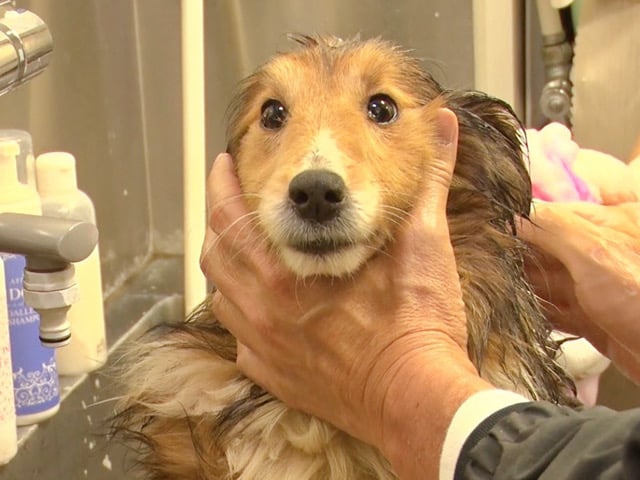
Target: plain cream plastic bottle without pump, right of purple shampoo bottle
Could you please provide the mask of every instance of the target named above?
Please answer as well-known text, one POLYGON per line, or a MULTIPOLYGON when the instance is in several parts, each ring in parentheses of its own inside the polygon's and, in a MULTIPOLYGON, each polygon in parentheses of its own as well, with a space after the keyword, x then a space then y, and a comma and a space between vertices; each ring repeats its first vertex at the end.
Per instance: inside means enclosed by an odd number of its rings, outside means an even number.
MULTIPOLYGON (((91 199, 78 189, 76 161, 66 152, 36 158, 36 179, 43 215, 96 223, 91 199)), ((58 372, 79 375, 103 366, 107 342, 98 245, 85 260, 74 264, 80 299, 71 305, 71 342, 56 350, 58 372)))

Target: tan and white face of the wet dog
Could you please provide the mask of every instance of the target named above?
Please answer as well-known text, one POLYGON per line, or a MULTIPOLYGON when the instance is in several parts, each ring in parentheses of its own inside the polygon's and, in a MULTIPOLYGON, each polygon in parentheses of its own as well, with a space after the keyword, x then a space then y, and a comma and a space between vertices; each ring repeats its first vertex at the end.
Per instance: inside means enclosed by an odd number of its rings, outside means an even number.
POLYGON ((229 151, 285 264, 343 275, 385 244, 419 195, 438 91, 383 42, 301 41, 242 85, 229 151))

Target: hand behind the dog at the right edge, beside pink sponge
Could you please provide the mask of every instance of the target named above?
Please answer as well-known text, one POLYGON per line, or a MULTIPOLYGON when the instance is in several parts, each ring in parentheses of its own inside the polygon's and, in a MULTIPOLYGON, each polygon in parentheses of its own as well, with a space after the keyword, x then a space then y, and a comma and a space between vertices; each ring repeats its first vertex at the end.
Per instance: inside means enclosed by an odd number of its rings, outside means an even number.
POLYGON ((640 203, 539 203, 519 235, 551 322, 640 381, 640 203))

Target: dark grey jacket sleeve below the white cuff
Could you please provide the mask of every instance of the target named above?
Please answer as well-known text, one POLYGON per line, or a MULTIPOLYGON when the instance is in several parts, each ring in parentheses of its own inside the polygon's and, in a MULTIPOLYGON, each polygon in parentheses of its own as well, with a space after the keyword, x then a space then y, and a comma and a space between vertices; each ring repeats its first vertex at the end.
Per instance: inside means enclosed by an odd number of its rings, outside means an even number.
POLYGON ((640 409, 521 403, 465 442, 455 480, 640 480, 640 409))

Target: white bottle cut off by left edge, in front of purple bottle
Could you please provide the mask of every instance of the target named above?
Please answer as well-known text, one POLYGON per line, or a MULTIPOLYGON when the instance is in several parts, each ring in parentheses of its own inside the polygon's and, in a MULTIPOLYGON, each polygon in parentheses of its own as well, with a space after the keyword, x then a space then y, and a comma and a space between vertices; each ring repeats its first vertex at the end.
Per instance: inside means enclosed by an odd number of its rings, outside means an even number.
POLYGON ((18 452, 16 406, 13 402, 13 370, 9 341, 9 312, 4 285, 4 263, 0 262, 0 465, 18 452))

